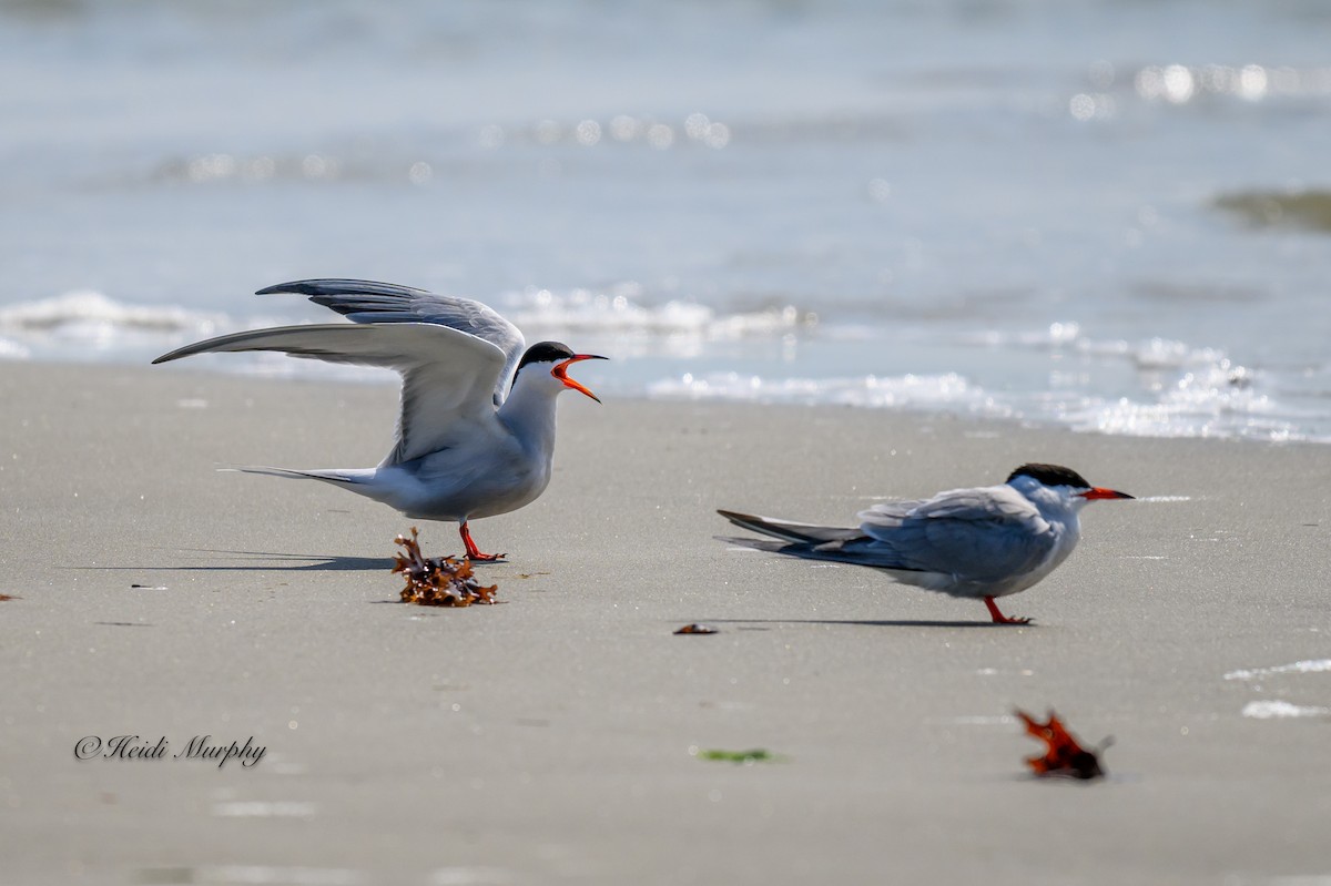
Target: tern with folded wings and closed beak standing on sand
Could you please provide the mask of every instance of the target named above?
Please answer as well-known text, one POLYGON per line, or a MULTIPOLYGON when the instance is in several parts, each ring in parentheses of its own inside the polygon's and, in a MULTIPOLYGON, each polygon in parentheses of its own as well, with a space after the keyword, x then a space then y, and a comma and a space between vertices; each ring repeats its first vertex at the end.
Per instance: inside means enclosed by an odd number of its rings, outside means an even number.
POLYGON ((1099 499, 1130 499, 1058 464, 1022 464, 1002 486, 949 490, 932 499, 884 502, 857 528, 788 523, 717 511, 735 525, 780 539, 723 539, 759 551, 881 569, 897 581, 954 597, 980 597, 994 624, 1029 624, 998 611, 1077 547, 1078 514, 1099 499))

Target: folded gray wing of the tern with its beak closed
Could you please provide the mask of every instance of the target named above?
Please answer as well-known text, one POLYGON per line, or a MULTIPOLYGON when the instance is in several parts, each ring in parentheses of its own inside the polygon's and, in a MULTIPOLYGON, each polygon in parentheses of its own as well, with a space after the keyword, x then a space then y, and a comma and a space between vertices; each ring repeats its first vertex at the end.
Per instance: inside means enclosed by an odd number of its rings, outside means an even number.
POLYGON ((874 565, 997 581, 1029 572, 1057 544, 1053 527, 1009 486, 954 490, 924 502, 878 504, 860 514, 874 565))

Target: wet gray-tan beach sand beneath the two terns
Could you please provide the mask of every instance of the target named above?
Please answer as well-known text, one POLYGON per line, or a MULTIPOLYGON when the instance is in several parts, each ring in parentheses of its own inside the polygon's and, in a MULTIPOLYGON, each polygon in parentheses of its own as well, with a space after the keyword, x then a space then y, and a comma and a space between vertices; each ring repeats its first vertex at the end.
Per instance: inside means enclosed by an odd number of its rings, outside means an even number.
POLYGON ((393 387, 7 365, 0 396, 3 882, 1331 882, 1331 448, 567 395, 550 490, 473 525, 502 605, 427 609, 405 517, 214 471, 374 464, 393 387), (713 540, 1028 460, 1142 498, 1004 600, 1032 627, 713 540), (1017 706, 1113 736, 1109 778, 1028 776, 1017 706), (168 750, 76 758, 122 734, 168 750))

